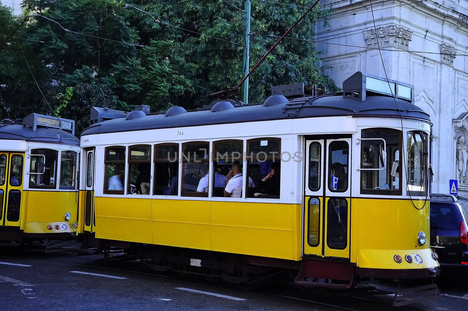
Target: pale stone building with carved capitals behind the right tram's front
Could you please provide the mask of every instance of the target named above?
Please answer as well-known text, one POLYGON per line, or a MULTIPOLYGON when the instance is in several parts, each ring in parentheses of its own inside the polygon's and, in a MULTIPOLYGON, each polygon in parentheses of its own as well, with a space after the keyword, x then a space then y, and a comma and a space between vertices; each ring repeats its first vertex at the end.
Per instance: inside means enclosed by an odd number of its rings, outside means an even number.
POLYGON ((317 22, 322 66, 340 86, 356 71, 414 85, 415 104, 431 115, 432 193, 459 180, 468 195, 468 0, 321 0, 317 22))

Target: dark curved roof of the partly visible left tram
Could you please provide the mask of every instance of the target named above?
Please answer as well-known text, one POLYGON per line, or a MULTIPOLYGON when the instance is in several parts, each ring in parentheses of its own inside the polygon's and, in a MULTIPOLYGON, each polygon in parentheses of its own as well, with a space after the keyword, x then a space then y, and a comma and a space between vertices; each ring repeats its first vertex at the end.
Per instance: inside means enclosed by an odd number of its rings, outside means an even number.
POLYGON ((21 124, 0 124, 0 140, 2 139, 80 145, 78 138, 64 130, 37 127, 36 131, 33 131, 21 124))

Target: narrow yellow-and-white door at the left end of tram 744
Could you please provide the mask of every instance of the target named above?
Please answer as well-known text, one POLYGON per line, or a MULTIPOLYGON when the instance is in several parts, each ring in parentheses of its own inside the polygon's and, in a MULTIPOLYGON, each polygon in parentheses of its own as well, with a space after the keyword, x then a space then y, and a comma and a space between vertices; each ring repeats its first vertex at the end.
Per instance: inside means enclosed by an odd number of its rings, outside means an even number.
POLYGON ((95 149, 86 151, 86 178, 85 178, 85 223, 84 230, 94 232, 94 172, 95 172, 95 149))

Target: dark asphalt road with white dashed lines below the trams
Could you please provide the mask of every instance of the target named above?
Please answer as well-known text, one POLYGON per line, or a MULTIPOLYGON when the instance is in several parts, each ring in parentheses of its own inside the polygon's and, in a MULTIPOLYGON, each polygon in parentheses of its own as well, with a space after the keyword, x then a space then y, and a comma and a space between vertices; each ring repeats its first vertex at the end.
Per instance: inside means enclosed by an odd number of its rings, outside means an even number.
MULTIPOLYGON (((395 310, 393 296, 324 295, 291 284, 244 291, 191 278, 151 273, 138 261, 112 265, 100 256, 0 249, 0 310, 395 310)), ((467 276, 468 277, 468 276, 467 276)), ((467 310, 468 283, 438 280, 444 296, 398 310, 467 310)), ((391 290, 391 283, 375 283, 391 290)))

